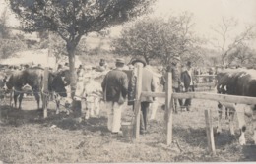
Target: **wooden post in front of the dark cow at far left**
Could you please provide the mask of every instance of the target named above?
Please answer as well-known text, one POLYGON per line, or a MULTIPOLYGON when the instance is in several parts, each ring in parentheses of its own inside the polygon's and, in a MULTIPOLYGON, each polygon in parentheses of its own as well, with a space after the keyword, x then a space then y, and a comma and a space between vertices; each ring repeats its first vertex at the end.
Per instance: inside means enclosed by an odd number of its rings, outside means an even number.
POLYGON ((48 75, 49 69, 46 67, 44 69, 44 76, 43 76, 43 92, 42 92, 42 108, 43 108, 43 118, 47 117, 47 107, 48 107, 48 75))

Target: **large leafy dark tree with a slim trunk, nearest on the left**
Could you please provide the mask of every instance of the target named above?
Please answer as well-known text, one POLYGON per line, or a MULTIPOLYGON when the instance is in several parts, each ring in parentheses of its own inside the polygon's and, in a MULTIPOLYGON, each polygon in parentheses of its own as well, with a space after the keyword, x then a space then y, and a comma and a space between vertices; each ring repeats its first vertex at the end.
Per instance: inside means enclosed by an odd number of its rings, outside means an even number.
POLYGON ((47 29, 66 44, 75 90, 75 50, 83 35, 119 25, 145 13, 152 0, 9 0, 28 32, 47 29))

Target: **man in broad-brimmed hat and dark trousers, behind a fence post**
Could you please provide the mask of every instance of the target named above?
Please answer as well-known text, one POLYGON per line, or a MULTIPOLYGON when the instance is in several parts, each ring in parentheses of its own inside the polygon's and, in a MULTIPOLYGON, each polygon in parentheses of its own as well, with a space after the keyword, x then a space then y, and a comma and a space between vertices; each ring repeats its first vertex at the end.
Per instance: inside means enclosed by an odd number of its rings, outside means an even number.
MULTIPOLYGON (((142 70, 142 91, 156 91, 156 82, 154 79, 154 75, 151 71, 145 68, 147 65, 146 61, 142 57, 137 57, 131 60, 130 62, 133 64, 136 68, 137 65, 143 66, 142 70)), ((129 101, 132 101, 135 99, 135 90, 136 90, 136 70, 134 70, 131 81, 129 82, 129 101)), ((146 134, 147 133, 147 114, 149 112, 149 106, 150 103, 154 101, 155 97, 142 97, 141 98, 141 111, 142 111, 142 117, 140 121, 140 134, 146 134)))

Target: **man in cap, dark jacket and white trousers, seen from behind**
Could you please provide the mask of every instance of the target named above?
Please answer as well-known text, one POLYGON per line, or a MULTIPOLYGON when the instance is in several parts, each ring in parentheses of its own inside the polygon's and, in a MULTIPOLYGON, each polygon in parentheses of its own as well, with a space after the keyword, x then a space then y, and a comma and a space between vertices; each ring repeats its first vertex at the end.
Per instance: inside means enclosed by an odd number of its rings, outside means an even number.
POLYGON ((108 110, 107 128, 117 134, 121 128, 121 114, 128 91, 128 78, 122 71, 123 59, 116 59, 116 68, 109 71, 101 83, 103 99, 108 110))

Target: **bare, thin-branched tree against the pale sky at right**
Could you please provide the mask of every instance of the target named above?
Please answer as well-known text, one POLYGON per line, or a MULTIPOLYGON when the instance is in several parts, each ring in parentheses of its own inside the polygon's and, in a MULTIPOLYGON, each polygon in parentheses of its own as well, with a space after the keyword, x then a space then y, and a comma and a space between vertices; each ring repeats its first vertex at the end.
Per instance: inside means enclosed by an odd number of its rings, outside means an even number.
POLYGON ((231 31, 234 30, 237 25, 238 23, 234 19, 223 18, 221 24, 212 28, 220 37, 219 39, 215 38, 215 41, 212 44, 218 50, 220 50, 223 65, 226 64, 225 60, 228 56, 228 53, 232 51, 237 45, 244 44, 246 41, 255 38, 255 33, 253 33, 254 26, 245 27, 243 32, 240 34, 235 34, 235 36, 231 38, 230 36, 234 35, 231 33, 231 31))

